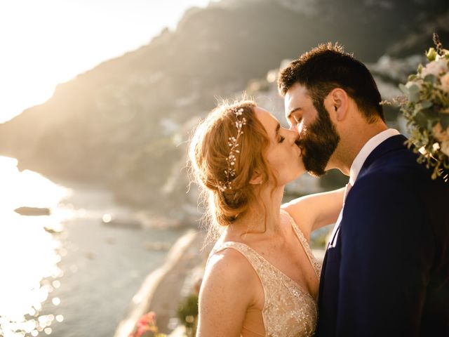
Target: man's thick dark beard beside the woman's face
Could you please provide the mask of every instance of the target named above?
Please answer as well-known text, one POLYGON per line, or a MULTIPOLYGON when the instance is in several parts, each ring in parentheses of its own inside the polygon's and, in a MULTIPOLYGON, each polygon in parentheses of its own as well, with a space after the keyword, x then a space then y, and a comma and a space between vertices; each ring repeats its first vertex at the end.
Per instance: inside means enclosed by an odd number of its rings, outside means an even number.
POLYGON ((300 135, 300 147, 304 166, 311 176, 323 176, 326 166, 338 143, 340 136, 330 120, 323 103, 314 103, 318 111, 316 121, 300 135))

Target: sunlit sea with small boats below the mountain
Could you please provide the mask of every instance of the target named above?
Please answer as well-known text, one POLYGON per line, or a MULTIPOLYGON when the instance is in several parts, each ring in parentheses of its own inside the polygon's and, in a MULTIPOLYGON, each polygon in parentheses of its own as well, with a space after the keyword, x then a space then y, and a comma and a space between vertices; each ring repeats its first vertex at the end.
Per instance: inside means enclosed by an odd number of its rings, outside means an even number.
POLYGON ((185 230, 114 227, 105 216, 126 224, 134 211, 101 187, 56 184, 0 157, 0 336, 113 336, 166 258, 154 247, 185 230), (21 206, 51 215, 21 216, 21 206))

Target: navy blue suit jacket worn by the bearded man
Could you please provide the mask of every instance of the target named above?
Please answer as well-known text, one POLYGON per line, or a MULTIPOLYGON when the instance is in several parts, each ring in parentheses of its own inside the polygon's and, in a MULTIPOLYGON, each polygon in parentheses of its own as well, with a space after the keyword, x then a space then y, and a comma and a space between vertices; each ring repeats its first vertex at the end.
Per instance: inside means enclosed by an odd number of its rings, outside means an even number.
POLYGON ((449 184, 405 141, 378 145, 347 195, 316 336, 449 336, 449 184))

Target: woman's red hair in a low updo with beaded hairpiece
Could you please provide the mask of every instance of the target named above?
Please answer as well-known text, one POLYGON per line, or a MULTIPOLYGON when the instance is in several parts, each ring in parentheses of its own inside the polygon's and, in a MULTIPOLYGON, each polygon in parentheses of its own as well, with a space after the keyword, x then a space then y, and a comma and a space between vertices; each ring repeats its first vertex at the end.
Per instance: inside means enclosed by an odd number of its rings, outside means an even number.
POLYGON ((210 215, 219 225, 231 224, 255 199, 255 186, 260 185, 250 180, 257 176, 266 183, 271 175, 264 157, 269 138, 255 107, 252 100, 220 104, 190 141, 193 176, 206 190, 210 215))

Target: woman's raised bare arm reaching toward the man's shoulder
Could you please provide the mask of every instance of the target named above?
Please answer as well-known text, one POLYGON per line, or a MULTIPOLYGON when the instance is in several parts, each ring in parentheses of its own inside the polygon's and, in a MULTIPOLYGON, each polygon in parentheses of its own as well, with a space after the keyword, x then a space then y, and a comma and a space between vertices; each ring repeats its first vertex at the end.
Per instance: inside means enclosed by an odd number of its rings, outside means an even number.
POLYGON ((320 227, 335 223, 342 209, 344 187, 330 192, 309 194, 281 207, 290 213, 307 236, 320 227))

